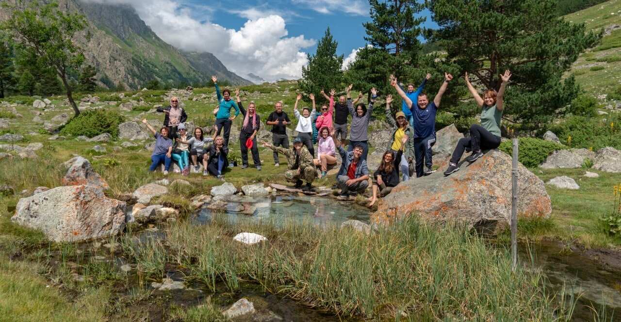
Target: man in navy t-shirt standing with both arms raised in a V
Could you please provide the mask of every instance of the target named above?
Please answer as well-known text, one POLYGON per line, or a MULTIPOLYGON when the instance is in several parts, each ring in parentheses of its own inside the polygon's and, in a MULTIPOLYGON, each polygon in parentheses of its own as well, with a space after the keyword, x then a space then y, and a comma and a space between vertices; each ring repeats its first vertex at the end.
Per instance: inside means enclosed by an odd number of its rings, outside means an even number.
POLYGON ((410 110, 412 111, 412 119, 414 119, 414 156, 416 177, 427 176, 435 170, 432 169, 432 146, 435 144, 435 116, 440 107, 442 96, 446 92, 448 83, 453 79, 453 75, 444 73, 444 83, 440 86, 438 94, 433 98, 433 102, 429 103, 427 94, 421 93, 418 96, 418 108, 412 100, 406 95, 399 84, 397 78, 391 75, 391 85, 399 93, 410 110), (426 169, 423 167, 426 166, 426 169))

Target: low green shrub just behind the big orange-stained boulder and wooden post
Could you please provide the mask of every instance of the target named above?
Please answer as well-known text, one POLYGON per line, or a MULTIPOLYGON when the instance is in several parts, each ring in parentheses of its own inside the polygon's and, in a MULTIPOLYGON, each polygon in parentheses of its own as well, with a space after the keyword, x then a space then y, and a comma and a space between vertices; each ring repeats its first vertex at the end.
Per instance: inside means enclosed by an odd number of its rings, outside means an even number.
MULTIPOLYGON (((520 138, 519 145, 520 148, 517 159, 527 168, 535 168, 539 164, 542 164, 552 152, 563 150, 562 145, 540 138, 520 138)), ((499 149, 511 155, 513 151, 511 141, 502 142, 499 149)))

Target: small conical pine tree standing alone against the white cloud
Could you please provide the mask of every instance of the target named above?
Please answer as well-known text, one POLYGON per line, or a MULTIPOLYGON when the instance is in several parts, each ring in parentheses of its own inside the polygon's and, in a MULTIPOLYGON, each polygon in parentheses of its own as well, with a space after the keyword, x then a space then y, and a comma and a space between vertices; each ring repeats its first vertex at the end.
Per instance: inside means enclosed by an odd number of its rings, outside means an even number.
MULTIPOLYGON (((337 46, 328 28, 317 43, 315 55, 308 54, 309 65, 302 67, 302 79, 298 81, 302 91, 319 94, 322 89, 329 92, 330 89, 338 91, 343 87, 343 55, 337 55, 337 46)), ((324 99, 322 96, 315 97, 324 99)))

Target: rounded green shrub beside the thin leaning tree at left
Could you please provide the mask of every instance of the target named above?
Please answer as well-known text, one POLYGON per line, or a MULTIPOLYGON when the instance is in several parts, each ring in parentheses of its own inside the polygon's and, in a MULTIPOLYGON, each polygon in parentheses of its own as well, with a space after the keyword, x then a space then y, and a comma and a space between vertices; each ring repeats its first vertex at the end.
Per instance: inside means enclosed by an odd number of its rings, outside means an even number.
POLYGON ((87 110, 78 117, 74 117, 67 123, 61 134, 64 135, 86 135, 89 138, 102 133, 110 133, 113 138, 119 135, 119 124, 124 122, 124 117, 112 110, 87 110))

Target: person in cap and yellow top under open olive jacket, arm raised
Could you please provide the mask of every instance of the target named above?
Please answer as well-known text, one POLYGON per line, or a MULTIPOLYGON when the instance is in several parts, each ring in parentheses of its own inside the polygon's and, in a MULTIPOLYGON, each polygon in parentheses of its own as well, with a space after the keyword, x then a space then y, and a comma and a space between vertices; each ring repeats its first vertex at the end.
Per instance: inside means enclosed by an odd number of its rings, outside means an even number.
MULTIPOLYGON (((392 103, 392 95, 386 96, 386 121, 394 128, 391 138, 392 141, 388 143, 386 151, 394 152, 392 156, 403 151, 399 161, 399 170, 401 171, 402 181, 408 181, 410 179, 410 161, 414 159, 414 140, 407 141, 406 146, 402 146, 401 138, 407 136, 409 138, 414 137, 414 128, 412 128, 406 120, 406 115, 403 112, 397 112, 395 117, 392 117, 390 104, 392 103)), ((384 154, 386 156, 386 154, 384 154)), ((412 169, 414 170, 414 169, 412 169)))

